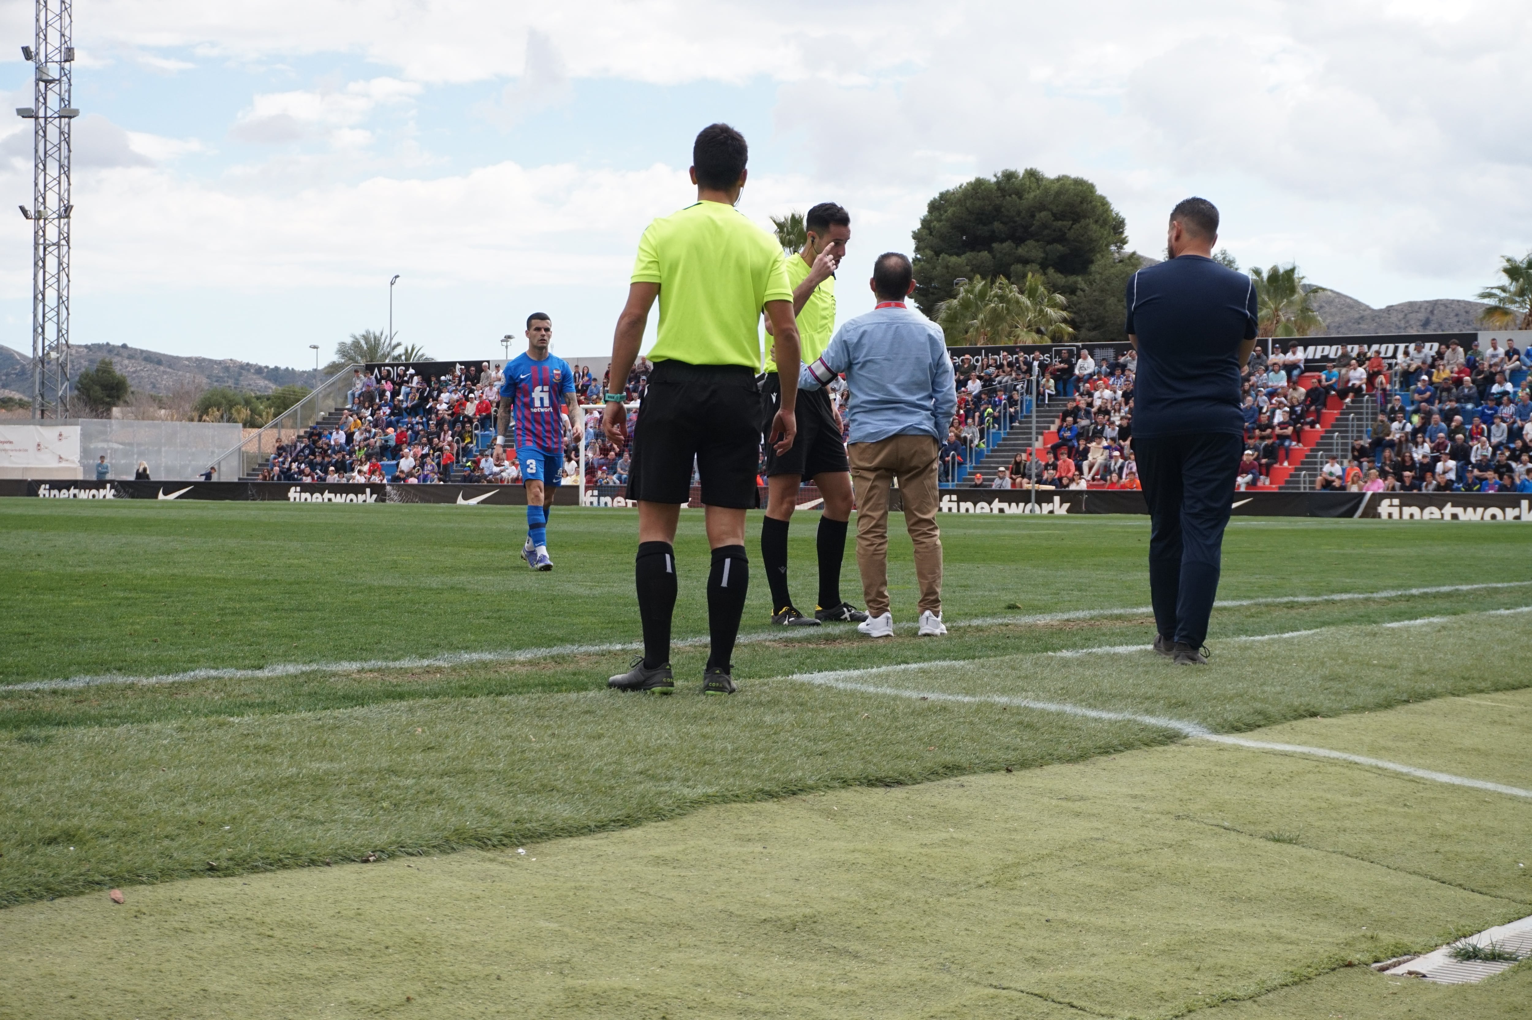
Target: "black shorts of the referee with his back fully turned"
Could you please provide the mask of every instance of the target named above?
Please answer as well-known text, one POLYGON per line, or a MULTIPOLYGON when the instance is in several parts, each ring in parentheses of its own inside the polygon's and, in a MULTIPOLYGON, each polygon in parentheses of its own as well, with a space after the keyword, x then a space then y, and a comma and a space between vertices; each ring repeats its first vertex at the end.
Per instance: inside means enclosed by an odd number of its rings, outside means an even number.
POLYGON ((657 361, 633 424, 628 499, 686 502, 696 459, 705 505, 755 508, 758 418, 755 374, 743 365, 657 361))

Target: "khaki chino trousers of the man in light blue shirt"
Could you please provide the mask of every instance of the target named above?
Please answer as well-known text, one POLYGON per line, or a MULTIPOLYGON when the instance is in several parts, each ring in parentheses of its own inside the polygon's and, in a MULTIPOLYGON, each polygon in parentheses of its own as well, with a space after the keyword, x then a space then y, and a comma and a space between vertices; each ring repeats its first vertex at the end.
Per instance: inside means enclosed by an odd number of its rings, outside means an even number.
POLYGON ((942 536, 936 527, 938 444, 928 435, 893 435, 852 443, 846 455, 856 492, 856 568, 867 613, 889 611, 889 487, 899 479, 904 528, 915 544, 915 579, 922 613, 942 613, 942 536))

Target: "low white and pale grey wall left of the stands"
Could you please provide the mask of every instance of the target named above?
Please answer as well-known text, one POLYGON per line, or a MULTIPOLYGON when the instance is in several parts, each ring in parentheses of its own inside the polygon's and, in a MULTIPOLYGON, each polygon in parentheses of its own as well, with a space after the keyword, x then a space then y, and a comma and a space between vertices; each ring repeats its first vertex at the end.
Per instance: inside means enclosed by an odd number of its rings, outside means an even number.
MULTIPOLYGON (((130 421, 112 418, 63 418, 60 421, 26 421, 0 424, 0 478, 95 478, 97 458, 106 455, 112 478, 132 478, 139 461, 147 461, 155 481, 199 478, 207 466, 239 444, 239 424, 211 421, 130 421), (40 452, 43 436, 52 438, 52 453, 40 452), (14 436, 6 444, 6 436, 14 436), (20 446, 29 444, 25 463, 20 446), (60 446, 63 444, 63 446, 60 446), (12 450, 11 459, 6 450, 12 450), (49 456, 52 461, 44 463, 49 456), (70 458, 72 459, 66 459, 70 458)), ((49 447, 49 449, 52 449, 49 447)), ((233 478, 227 481, 236 481, 233 478)))

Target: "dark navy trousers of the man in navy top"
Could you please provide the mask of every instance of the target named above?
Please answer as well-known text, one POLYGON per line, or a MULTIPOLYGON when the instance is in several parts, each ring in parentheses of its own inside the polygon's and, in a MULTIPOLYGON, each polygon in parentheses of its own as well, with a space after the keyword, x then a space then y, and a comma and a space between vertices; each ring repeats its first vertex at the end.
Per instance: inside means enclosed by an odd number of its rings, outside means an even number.
POLYGON ((1134 438, 1149 502, 1149 591, 1160 634, 1198 648, 1218 596, 1224 527, 1244 438, 1198 432, 1134 438))

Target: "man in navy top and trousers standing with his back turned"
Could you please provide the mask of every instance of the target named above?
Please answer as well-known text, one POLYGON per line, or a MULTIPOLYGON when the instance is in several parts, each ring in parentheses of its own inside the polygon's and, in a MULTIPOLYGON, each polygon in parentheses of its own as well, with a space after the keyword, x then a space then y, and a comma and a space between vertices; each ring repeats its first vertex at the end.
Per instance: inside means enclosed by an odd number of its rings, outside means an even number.
POLYGON ((1128 282, 1138 349, 1134 453, 1149 501, 1154 646, 1178 663, 1201 651, 1218 594, 1224 527, 1244 450, 1239 366, 1255 349, 1255 280, 1213 262, 1218 210, 1190 198, 1170 213, 1167 262, 1128 282))

